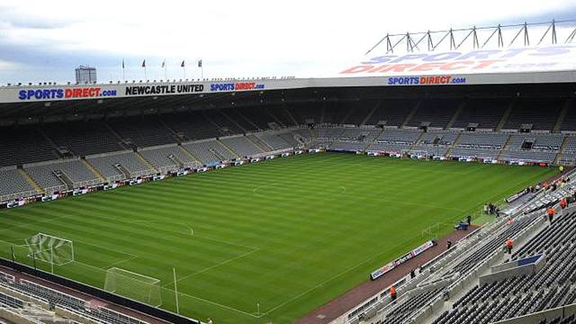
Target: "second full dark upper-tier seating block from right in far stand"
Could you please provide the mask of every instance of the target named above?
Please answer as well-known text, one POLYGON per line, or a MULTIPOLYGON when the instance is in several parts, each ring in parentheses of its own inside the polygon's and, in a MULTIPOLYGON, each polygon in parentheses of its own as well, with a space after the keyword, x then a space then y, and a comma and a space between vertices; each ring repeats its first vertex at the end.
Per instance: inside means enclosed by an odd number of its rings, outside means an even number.
POLYGON ((509 104, 509 99, 470 99, 458 114, 452 127, 465 129, 473 122, 478 124, 478 129, 494 130, 509 104))

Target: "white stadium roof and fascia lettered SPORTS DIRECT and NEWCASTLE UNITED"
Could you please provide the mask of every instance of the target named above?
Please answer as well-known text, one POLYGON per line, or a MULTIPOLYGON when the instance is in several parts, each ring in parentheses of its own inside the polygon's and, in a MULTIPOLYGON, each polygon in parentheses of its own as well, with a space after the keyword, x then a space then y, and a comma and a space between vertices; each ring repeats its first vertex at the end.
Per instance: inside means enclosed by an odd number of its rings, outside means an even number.
POLYGON ((576 82, 576 45, 386 54, 333 77, 0 87, 0 103, 233 93, 311 87, 502 85, 576 82))

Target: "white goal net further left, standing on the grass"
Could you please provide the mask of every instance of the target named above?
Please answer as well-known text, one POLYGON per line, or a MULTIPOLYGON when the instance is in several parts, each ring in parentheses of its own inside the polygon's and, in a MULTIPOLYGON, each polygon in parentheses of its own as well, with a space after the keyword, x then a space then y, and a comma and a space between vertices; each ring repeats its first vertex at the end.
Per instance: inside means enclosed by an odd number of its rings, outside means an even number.
POLYGON ((74 243, 66 238, 38 233, 26 238, 25 246, 28 247, 28 257, 54 266, 74 261, 74 243))

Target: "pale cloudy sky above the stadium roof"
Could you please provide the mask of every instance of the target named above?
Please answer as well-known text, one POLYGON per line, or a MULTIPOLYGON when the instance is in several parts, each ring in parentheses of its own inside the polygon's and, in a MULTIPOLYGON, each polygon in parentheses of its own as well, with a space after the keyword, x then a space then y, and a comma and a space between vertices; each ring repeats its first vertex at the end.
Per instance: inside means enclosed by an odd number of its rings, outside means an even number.
POLYGON ((150 80, 326 76, 387 32, 552 19, 576 19, 576 2, 0 0, 0 85, 73 82, 79 65, 140 80, 144 59, 150 80))

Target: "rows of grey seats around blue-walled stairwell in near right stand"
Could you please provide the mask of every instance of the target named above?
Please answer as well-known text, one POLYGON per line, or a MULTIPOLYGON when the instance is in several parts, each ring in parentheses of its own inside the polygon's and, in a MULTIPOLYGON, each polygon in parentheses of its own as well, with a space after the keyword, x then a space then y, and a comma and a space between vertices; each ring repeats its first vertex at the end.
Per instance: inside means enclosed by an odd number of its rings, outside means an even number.
MULTIPOLYGON (((434 323, 493 322, 572 304, 576 300, 572 285, 576 282, 575 220, 576 213, 565 213, 512 256, 517 260, 543 255, 543 269, 475 286, 454 303, 453 311, 444 312, 434 323)), ((571 321, 573 316, 567 320, 571 321)))

